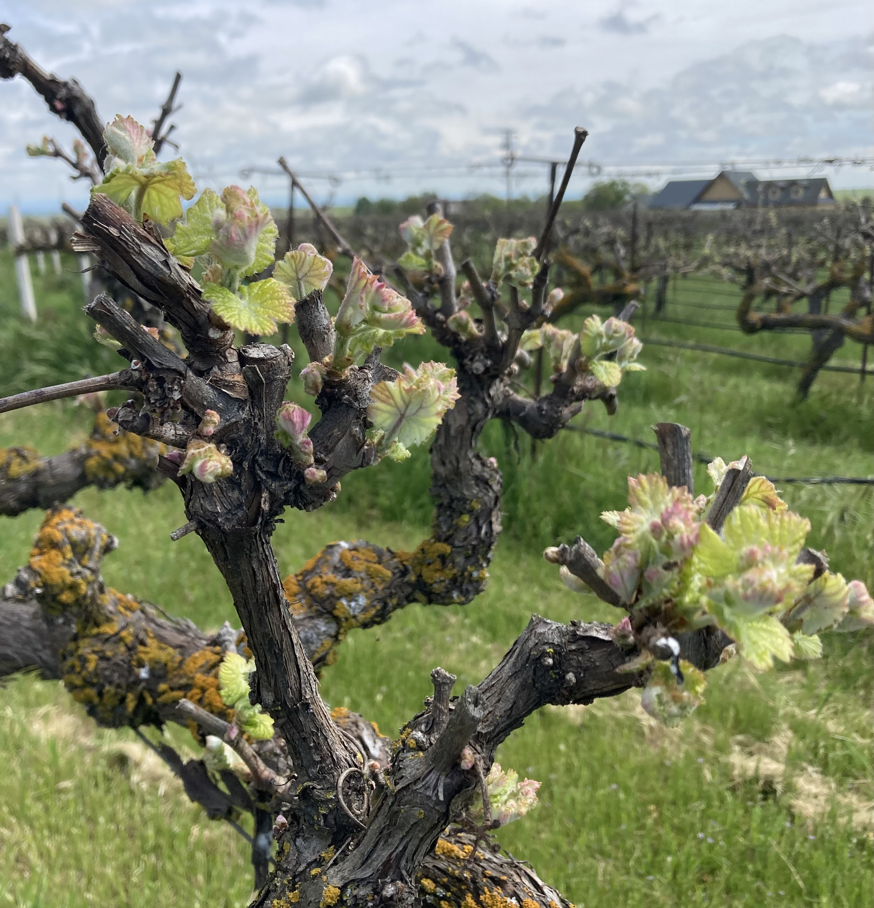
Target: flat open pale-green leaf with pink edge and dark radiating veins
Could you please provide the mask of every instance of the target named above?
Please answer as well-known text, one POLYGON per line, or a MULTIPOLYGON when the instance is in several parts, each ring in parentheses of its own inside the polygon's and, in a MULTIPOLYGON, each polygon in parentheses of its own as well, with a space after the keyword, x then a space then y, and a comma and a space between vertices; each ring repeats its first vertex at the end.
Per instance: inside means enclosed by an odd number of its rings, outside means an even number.
POLYGON ((394 442, 405 449, 422 444, 459 397, 455 372, 441 362, 423 362, 418 369, 404 365, 397 379, 374 385, 367 415, 382 432, 380 452, 394 442))

